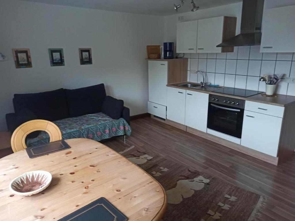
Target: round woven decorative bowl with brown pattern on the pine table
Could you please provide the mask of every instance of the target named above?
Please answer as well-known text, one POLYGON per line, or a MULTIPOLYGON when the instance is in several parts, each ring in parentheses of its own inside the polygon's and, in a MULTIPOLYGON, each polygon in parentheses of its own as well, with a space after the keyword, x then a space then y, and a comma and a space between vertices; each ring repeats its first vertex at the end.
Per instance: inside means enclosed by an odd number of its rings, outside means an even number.
POLYGON ((31 196, 46 189, 51 180, 52 176, 47 171, 30 171, 14 178, 9 184, 9 190, 17 195, 31 196))

